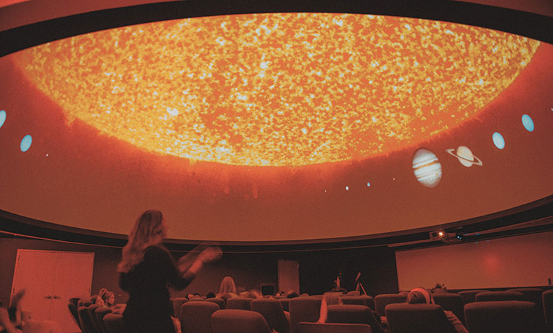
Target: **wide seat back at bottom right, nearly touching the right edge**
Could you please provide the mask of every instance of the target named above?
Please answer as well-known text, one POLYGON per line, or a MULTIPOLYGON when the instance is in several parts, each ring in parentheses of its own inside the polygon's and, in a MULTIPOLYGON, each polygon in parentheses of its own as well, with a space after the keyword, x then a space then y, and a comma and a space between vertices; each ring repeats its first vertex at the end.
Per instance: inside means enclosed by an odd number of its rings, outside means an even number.
POLYGON ((538 307, 527 301, 487 301, 465 305, 471 333, 537 333, 538 307))

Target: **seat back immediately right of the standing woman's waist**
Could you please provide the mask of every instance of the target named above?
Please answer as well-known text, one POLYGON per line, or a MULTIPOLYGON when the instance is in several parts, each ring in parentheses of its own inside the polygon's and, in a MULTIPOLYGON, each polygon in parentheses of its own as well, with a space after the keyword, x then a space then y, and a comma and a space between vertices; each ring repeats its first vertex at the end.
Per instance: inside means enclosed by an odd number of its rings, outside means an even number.
POLYGON ((180 307, 180 330, 182 333, 212 333, 212 314, 219 305, 207 301, 195 301, 180 307))

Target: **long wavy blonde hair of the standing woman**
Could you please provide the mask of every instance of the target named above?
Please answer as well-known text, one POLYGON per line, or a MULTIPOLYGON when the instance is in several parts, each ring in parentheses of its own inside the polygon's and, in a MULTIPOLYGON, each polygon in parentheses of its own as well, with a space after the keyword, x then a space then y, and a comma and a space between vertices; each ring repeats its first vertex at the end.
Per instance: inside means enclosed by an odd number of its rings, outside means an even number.
POLYGON ((129 272, 135 265, 144 260, 144 250, 162 241, 163 214, 161 211, 149 210, 136 220, 129 241, 123 247, 118 272, 129 272))

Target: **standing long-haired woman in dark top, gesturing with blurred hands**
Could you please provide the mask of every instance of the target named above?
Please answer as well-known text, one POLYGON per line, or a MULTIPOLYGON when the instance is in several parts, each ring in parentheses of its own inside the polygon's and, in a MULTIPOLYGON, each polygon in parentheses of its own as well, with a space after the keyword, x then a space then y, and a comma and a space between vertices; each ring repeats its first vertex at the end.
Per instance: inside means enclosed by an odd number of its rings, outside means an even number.
MULTIPOLYGON (((129 292, 123 322, 131 333, 174 333, 169 285, 184 289, 204 263, 221 256, 218 247, 207 247, 185 272, 178 269, 169 250, 162 246, 167 227, 160 211, 146 211, 138 218, 118 266, 119 285, 129 292)), ((180 263, 180 260, 179 260, 180 263)))

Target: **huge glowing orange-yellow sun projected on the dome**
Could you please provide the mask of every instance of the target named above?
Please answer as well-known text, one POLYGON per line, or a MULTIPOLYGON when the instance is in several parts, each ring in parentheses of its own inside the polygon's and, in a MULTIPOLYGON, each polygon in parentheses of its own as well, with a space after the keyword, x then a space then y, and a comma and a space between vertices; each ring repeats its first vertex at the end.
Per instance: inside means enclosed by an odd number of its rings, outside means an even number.
POLYGON ((128 26, 13 59, 69 122, 140 149, 301 166, 388 153, 455 127, 538 46, 440 21, 290 13, 128 26))

